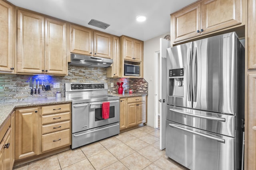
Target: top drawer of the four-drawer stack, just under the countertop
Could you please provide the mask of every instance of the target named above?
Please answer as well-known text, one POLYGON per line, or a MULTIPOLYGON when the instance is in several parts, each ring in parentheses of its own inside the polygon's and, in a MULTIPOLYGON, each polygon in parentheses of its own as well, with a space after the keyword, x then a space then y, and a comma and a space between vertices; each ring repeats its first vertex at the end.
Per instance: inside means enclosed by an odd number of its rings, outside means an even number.
POLYGON ((70 104, 58 104, 58 105, 42 107, 42 115, 46 115, 50 113, 60 113, 64 111, 70 111, 70 104))

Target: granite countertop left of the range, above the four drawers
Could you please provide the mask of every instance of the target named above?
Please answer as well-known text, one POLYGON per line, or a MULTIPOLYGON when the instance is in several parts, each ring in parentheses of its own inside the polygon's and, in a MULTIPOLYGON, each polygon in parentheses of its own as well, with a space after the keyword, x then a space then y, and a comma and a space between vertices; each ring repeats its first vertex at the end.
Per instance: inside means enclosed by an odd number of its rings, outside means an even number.
POLYGON ((66 100, 66 98, 60 99, 44 99, 44 100, 27 100, 27 101, 17 101, 17 102, 2 102, 0 103, 0 128, 7 121, 8 116, 16 109, 20 107, 29 106, 44 106, 50 104, 63 104, 71 103, 72 101, 66 100))

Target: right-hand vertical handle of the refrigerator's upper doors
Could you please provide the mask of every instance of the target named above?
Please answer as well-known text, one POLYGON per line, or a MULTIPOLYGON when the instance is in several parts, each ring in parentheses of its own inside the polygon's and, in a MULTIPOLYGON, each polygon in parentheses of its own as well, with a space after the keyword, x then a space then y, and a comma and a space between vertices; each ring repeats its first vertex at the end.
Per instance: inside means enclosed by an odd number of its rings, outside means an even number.
POLYGON ((197 49, 195 47, 193 55, 193 66, 192 66, 192 93, 193 93, 193 102, 196 102, 196 93, 197 93, 197 49))

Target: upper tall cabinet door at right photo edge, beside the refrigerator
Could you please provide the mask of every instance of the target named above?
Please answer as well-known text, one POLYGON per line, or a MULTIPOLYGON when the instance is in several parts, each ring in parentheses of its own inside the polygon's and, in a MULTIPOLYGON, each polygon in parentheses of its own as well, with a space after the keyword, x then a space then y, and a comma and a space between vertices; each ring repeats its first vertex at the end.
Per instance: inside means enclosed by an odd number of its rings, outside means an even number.
POLYGON ((248 68, 256 68, 256 0, 248 0, 248 68))

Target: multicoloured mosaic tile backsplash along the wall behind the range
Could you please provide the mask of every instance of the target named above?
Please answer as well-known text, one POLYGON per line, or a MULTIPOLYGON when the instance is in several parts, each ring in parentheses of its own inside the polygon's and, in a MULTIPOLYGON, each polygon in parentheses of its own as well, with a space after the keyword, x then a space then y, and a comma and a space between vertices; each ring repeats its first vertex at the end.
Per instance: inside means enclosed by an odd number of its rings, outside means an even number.
MULTIPOLYGON (((49 76, 49 75, 16 75, 16 74, 0 74, 0 102, 4 101, 23 101, 23 100, 44 100, 56 98, 56 92, 61 92, 61 96, 65 97, 65 83, 81 82, 81 83, 108 83, 108 92, 118 93, 117 82, 124 82, 124 92, 128 93, 129 89, 134 92, 148 93, 148 83, 143 78, 107 78, 106 68, 100 67, 84 67, 84 66, 68 66, 68 76, 49 76), (40 94, 30 95, 29 80, 32 82, 36 78, 36 83, 40 82, 40 94), (42 90, 42 81, 50 82, 49 91, 42 90), (54 83, 60 83, 60 88, 53 88, 54 83), (114 83, 114 87, 111 87, 114 83)), ((36 86, 37 88, 37 86, 36 86)))

